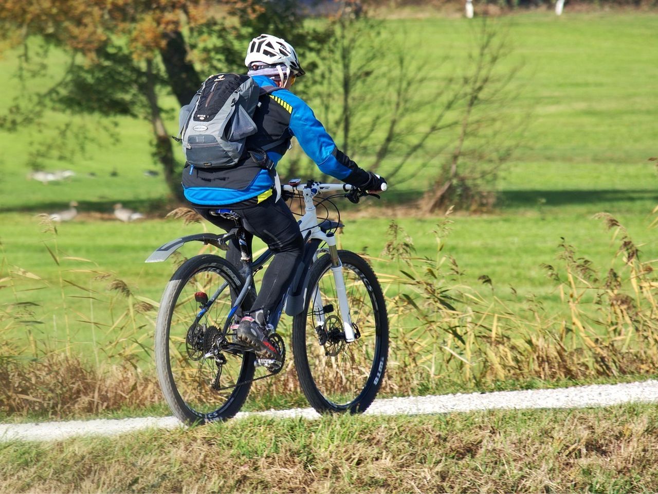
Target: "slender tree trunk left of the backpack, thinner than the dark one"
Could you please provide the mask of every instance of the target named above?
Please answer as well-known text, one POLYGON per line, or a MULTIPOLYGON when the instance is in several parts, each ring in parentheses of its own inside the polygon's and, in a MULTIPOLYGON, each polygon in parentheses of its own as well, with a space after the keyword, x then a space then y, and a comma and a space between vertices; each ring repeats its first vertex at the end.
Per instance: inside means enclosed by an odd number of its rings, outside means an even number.
POLYGON ((146 61, 146 84, 144 87, 144 94, 149 103, 151 111, 150 120, 153 126, 153 137, 155 138, 155 146, 153 149, 153 157, 160 163, 163 173, 164 181, 166 182, 171 195, 180 200, 184 200, 182 186, 180 185, 180 177, 176 173, 176 159, 174 159, 174 150, 172 147, 172 138, 164 127, 164 122, 158 105, 158 97, 155 92, 155 74, 153 74, 153 61, 146 61))

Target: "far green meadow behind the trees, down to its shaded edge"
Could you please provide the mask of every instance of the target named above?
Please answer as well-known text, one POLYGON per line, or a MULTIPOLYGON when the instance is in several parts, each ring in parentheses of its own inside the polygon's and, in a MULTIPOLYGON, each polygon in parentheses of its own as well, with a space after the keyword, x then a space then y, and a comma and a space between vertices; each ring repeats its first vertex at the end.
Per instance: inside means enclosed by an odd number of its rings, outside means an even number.
MULTIPOLYGON (((655 174, 647 159, 656 154, 658 140, 654 122, 658 96, 651 90, 658 76, 658 55, 651 41, 655 14, 574 13, 558 18, 528 13, 495 22, 511 40, 513 52, 505 61, 507 67, 524 65, 519 75, 523 90, 518 108, 509 111, 534 109, 524 146, 499 184, 504 192, 501 205, 506 210, 524 209, 544 198, 547 206, 583 205, 588 210, 597 204, 642 212, 653 207, 655 174)), ((388 26, 393 34, 405 33, 412 53, 430 50, 428 59, 447 57, 441 69, 427 66, 437 77, 442 76, 441 70, 463 65, 474 31, 474 24, 465 19, 391 20, 388 26)), ((51 57, 56 65, 57 53, 51 57)), ((9 75, 15 62, 8 55, 0 67, 9 75)), ((7 75, 0 78, 0 110, 9 107, 16 96, 16 81, 7 75)), ((307 81, 305 84, 313 84, 313 74, 307 81)), ((421 87, 418 91, 427 90, 421 87)), ((168 126, 174 132, 174 103, 171 98, 164 102, 172 110, 168 126)), ((426 111, 431 115, 431 104, 426 111)), ((57 114, 52 118, 53 123, 65 119, 57 114)), ((93 127, 93 117, 80 122, 93 127)), ((116 201, 142 207, 154 201, 158 204, 165 193, 163 183, 143 177, 143 171, 152 167, 149 124, 132 119, 117 123, 120 144, 90 130, 86 157, 72 162, 25 163, 32 141, 24 133, 2 134, 0 166, 9 173, 3 174, 0 182, 0 210, 47 210, 73 199, 81 203, 81 209, 93 211, 111 211, 116 201), (78 176, 62 186, 41 186, 25 180, 32 164, 72 169, 78 176), (109 177, 112 171, 118 176, 109 177), (97 178, 86 177, 88 172, 96 173, 97 178)), ((49 129, 42 134, 47 138, 49 129)), ((415 163, 411 168, 417 166, 432 171, 431 163, 415 163)), ((417 182, 405 184, 398 193, 405 192, 407 197, 422 190, 417 184, 423 179, 421 174, 417 182)))

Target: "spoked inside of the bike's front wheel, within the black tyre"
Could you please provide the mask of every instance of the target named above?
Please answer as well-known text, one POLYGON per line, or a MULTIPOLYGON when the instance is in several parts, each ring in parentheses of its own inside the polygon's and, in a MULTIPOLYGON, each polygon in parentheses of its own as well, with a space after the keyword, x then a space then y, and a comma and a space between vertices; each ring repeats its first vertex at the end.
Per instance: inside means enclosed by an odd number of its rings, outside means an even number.
POLYGON ((324 335, 321 332, 318 336, 311 294, 306 324, 306 354, 318 392, 334 407, 347 409, 359 400, 372 379, 380 341, 377 337, 377 303, 365 275, 356 267, 343 263, 343 278, 352 323, 360 336, 351 343, 344 341, 336 283, 332 271, 326 269, 316 287, 320 290, 322 306, 331 305, 333 311, 325 315, 324 335), (322 336, 327 339, 324 345, 320 344, 322 336))

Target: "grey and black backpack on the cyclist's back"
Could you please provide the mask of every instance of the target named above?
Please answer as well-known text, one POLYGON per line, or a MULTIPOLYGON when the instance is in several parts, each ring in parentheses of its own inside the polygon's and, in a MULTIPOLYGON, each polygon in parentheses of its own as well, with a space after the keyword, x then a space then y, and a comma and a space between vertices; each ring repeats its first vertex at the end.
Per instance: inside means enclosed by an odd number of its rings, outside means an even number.
POLYGON ((245 153, 246 138, 257 132, 252 117, 259 96, 278 89, 261 89, 251 77, 239 74, 207 78, 178 115, 188 163, 202 169, 234 167, 245 153))

